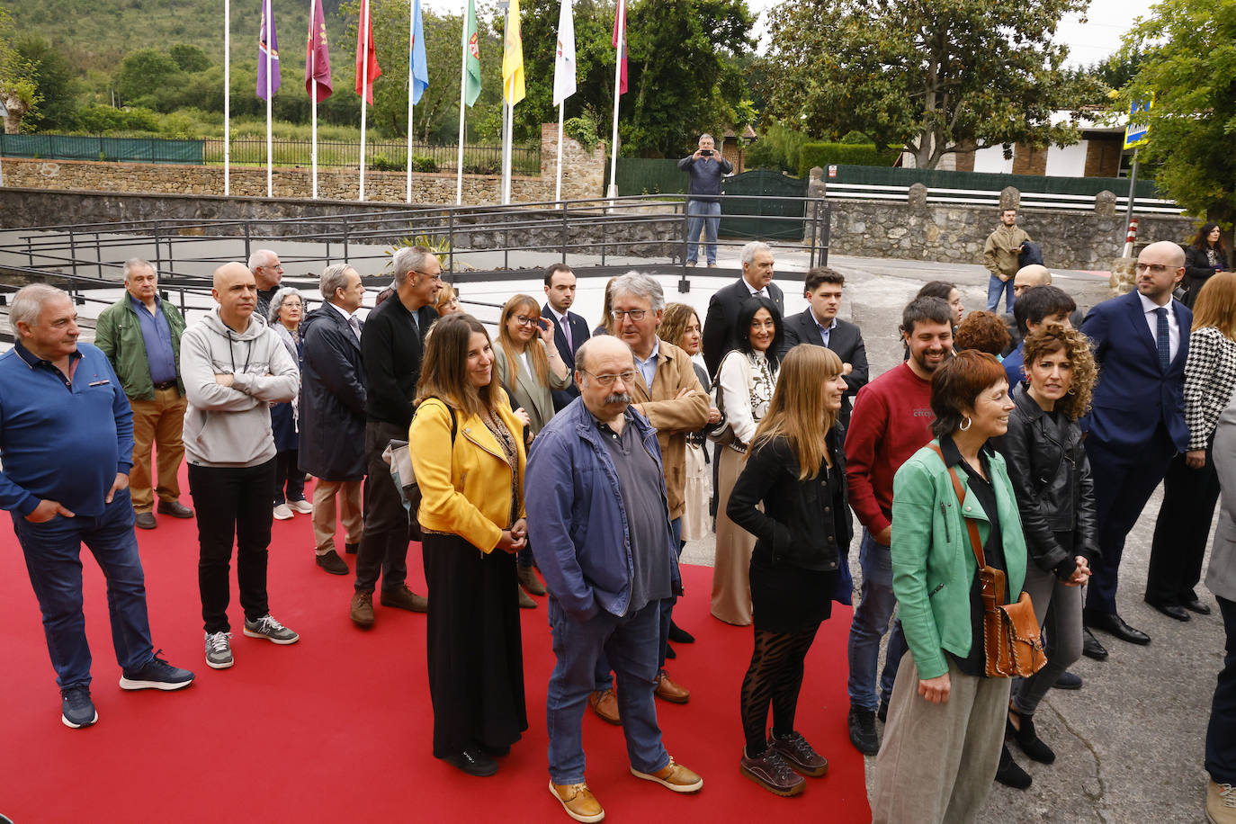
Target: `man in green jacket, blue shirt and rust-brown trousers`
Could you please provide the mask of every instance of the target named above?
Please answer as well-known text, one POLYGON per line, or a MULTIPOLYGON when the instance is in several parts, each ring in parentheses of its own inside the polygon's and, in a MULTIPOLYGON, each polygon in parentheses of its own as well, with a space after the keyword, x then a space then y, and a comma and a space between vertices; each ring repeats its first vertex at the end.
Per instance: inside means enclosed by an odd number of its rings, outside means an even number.
POLYGON ((158 274, 141 258, 125 261, 127 294, 99 314, 95 345, 103 350, 133 410, 133 471, 129 487, 138 529, 154 529, 158 513, 193 518, 179 502, 184 446, 184 383, 180 380, 180 334, 184 317, 158 296, 158 274), (157 446, 158 487, 151 489, 151 445, 157 446))

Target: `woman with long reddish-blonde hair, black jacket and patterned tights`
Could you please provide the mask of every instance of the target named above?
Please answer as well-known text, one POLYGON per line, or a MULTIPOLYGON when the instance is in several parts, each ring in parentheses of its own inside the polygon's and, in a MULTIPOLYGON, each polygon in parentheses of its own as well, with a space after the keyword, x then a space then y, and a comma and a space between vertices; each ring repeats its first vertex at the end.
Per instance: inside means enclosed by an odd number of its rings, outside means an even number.
POLYGON ((777 796, 798 794, 802 776, 828 770, 795 731, 794 719, 803 660, 819 624, 832 614, 833 600, 850 603, 845 556, 854 530, 838 424, 844 394, 836 352, 807 343, 791 348, 726 507, 756 539, 750 565, 755 647, 743 678, 747 745, 739 768, 777 796))

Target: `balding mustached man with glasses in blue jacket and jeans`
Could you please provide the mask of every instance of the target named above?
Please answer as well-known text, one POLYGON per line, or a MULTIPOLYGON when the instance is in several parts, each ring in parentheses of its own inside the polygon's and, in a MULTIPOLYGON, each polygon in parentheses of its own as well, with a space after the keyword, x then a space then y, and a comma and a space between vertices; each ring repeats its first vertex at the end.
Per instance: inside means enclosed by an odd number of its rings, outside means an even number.
MULTIPOLYGON (((653 315, 632 306, 629 293, 622 303, 617 296, 620 324, 630 322, 628 313, 643 311, 635 322, 653 315)), ((580 398, 536 436, 525 494, 557 658, 545 705, 549 789, 575 820, 598 822, 604 810, 583 775, 582 720, 602 657, 618 671, 632 775, 679 793, 698 791, 703 780, 666 752, 653 700, 661 605, 682 583, 659 434, 632 405, 643 378, 618 337, 593 337, 576 358, 580 398)))

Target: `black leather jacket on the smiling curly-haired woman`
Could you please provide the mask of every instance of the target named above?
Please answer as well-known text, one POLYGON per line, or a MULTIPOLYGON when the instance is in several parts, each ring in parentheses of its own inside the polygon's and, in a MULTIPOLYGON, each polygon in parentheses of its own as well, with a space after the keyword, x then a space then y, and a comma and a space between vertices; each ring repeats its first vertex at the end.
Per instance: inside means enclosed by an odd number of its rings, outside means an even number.
POLYGON ((1009 434, 996 441, 1017 495, 1026 549, 1038 568, 1067 579, 1077 568, 1074 556, 1099 556, 1099 528, 1094 509, 1094 479, 1082 446, 1082 429, 1065 418, 1043 411, 1025 384, 1012 392, 1016 409, 1009 415, 1009 434), (1060 545, 1062 534, 1073 546, 1060 545))

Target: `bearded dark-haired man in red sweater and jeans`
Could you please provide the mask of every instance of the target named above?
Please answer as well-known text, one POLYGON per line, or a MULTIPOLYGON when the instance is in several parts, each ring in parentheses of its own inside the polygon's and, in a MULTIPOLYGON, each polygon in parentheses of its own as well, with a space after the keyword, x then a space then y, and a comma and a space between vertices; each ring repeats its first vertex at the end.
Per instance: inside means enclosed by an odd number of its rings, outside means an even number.
MULTIPOLYGON (((892 521, 892 476, 906 458, 931 441, 931 377, 953 352, 953 314, 939 298, 917 298, 901 314, 901 336, 908 359, 863 387, 854 399, 845 436, 845 477, 854 514, 863 524, 859 566, 863 587, 849 636, 850 741, 864 755, 875 755, 875 673, 880 639, 897 600, 892 594, 889 541, 892 521)), ((892 679, 906 651, 901 625, 889 639, 880 676, 880 719, 887 712, 892 679)))

